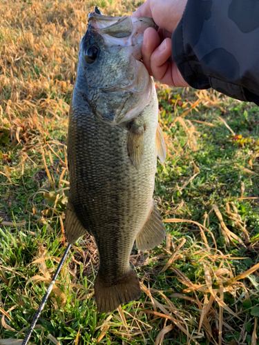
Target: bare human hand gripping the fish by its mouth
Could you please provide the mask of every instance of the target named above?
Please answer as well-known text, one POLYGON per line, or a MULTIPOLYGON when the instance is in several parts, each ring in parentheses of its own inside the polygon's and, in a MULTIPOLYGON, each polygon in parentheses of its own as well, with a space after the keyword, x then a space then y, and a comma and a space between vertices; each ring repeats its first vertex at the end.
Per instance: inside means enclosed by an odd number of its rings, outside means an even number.
POLYGON ((158 32, 148 28, 144 32, 142 59, 150 75, 170 86, 189 86, 171 55, 171 34, 178 25, 187 0, 146 0, 131 17, 153 18, 158 32))

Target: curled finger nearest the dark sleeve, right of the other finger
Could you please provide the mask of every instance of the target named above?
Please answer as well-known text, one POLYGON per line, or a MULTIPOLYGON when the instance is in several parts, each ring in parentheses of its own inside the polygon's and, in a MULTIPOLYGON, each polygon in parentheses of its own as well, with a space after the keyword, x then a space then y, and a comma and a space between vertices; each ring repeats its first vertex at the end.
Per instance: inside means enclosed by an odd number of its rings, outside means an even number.
POLYGON ((166 38, 151 55, 150 68, 155 79, 162 83, 173 85, 172 63, 168 61, 171 58, 171 39, 166 38))

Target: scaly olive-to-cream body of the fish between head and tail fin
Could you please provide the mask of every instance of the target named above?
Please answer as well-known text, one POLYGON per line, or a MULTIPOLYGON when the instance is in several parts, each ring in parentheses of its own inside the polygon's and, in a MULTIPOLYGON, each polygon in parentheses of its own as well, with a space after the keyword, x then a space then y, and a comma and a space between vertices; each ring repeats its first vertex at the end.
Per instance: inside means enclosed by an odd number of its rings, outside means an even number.
POLYGON ((113 277, 121 277, 128 271, 128 255, 152 206, 156 168, 155 106, 148 106, 139 115, 146 123, 146 131, 145 159, 138 171, 128 159, 126 125, 111 127, 97 120, 90 108, 84 106, 70 112, 69 199, 81 224, 95 237, 100 269, 106 270, 106 276, 110 273, 110 262, 113 262, 113 277), (155 110, 153 117, 152 109, 155 110))

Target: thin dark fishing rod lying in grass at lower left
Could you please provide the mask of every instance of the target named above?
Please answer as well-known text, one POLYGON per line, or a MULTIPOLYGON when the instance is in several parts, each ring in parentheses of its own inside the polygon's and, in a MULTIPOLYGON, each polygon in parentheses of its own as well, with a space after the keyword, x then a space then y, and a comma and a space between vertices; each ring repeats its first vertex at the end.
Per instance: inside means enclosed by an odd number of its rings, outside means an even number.
POLYGON ((59 262, 59 266, 57 267, 55 275, 54 275, 54 277, 52 277, 52 280, 50 282, 50 286, 48 286, 48 290, 46 291, 43 299, 41 300, 41 304, 39 304, 39 308, 35 314, 35 317, 32 320, 32 323, 30 324, 30 328, 28 329, 28 332, 26 333, 26 337, 23 339, 23 342, 21 345, 28 345, 28 342, 30 340, 30 336, 32 335, 32 331, 34 330, 34 328, 37 324, 37 321, 41 315, 41 312, 44 310, 44 306, 48 300, 48 296, 50 295, 50 293, 52 291, 52 288, 53 288, 53 286, 57 280, 57 276, 59 275, 60 270, 61 270, 61 268, 62 268, 62 266, 66 260, 66 257, 68 256, 68 253, 69 253, 71 246, 72 246, 72 244, 68 244, 68 246, 66 247, 65 253, 64 253, 63 257, 61 258, 61 261, 59 262))

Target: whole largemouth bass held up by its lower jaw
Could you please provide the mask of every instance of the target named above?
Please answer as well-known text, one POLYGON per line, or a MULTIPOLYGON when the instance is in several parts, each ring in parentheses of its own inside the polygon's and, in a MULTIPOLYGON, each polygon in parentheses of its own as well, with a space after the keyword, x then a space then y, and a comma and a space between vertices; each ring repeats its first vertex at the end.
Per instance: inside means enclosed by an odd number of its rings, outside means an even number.
POLYGON ((153 201, 157 155, 164 161, 153 79, 140 61, 149 18, 108 17, 96 7, 79 46, 68 126, 70 192, 66 233, 86 232, 99 252, 95 299, 101 313, 141 295, 129 264, 162 243, 164 226, 153 201))

